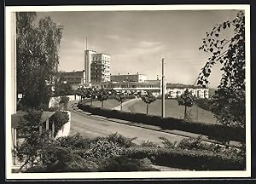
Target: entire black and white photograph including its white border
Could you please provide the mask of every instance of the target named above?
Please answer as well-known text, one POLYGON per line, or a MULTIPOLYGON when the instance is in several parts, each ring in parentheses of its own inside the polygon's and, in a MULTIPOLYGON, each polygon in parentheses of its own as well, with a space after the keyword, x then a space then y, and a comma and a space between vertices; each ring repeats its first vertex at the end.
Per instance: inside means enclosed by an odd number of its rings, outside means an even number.
POLYGON ((250 177, 249 9, 7 7, 7 177, 250 177))

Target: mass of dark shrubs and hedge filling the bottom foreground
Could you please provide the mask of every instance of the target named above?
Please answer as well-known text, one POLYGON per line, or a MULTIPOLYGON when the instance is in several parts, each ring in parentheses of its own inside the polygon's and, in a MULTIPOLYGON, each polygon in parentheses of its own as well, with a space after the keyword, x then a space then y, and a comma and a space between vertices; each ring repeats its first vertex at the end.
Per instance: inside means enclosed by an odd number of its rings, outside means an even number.
MULTIPOLYGON (((154 171, 154 165, 186 170, 244 170, 244 154, 227 147, 184 139, 165 147, 152 142, 132 143, 135 138, 113 134, 93 140, 73 135, 45 147, 43 165, 25 172, 154 171)), ((241 150, 240 150, 241 151, 241 150)))

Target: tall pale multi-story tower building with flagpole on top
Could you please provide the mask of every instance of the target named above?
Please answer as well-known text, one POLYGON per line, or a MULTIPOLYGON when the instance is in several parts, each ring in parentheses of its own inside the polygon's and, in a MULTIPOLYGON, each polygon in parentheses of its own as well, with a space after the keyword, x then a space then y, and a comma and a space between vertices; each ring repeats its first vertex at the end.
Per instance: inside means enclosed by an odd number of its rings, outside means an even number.
POLYGON ((110 55, 84 51, 85 83, 110 81, 110 55))

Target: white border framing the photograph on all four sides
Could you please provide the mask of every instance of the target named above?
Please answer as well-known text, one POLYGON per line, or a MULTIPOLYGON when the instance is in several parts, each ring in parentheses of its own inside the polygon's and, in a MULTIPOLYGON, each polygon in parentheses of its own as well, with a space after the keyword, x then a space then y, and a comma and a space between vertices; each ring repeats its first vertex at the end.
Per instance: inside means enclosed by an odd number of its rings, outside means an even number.
POLYGON ((95 173, 11 173, 11 109, 10 103, 6 105, 6 179, 109 179, 109 178, 188 178, 188 177, 250 177, 251 176, 251 100, 250 100, 250 6, 237 5, 125 5, 125 6, 23 6, 6 7, 5 24, 5 54, 6 54, 6 102, 11 99, 11 20, 10 16, 15 11, 134 11, 134 10, 218 10, 218 9, 241 9, 245 10, 246 17, 246 145, 247 145, 247 170, 244 171, 150 171, 150 172, 95 172, 95 173))

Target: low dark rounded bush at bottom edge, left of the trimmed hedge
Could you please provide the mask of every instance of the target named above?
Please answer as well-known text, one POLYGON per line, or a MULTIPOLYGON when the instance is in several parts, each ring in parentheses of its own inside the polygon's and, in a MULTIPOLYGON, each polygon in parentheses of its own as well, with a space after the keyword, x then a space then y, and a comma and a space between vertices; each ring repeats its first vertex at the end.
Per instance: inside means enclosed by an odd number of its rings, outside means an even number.
POLYGON ((136 159, 123 156, 108 158, 102 161, 99 171, 127 172, 127 171, 155 171, 148 158, 136 159))

